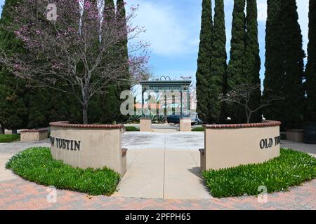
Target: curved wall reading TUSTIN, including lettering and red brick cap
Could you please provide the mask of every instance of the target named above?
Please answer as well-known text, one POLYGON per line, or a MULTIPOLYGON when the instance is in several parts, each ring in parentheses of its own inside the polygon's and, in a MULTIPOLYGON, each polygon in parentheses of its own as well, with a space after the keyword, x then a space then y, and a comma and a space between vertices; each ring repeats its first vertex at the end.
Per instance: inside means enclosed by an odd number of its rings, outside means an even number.
POLYGON ((81 169, 108 167, 126 172, 126 148, 121 148, 124 125, 51 123, 51 155, 81 169))

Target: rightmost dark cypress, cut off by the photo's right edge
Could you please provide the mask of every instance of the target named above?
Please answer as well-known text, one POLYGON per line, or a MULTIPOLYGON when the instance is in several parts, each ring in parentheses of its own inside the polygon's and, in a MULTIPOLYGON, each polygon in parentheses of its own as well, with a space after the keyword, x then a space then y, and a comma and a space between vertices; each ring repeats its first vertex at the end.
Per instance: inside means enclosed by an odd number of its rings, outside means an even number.
POLYGON ((310 0, 308 64, 306 65, 307 110, 305 121, 316 122, 316 1, 310 0))

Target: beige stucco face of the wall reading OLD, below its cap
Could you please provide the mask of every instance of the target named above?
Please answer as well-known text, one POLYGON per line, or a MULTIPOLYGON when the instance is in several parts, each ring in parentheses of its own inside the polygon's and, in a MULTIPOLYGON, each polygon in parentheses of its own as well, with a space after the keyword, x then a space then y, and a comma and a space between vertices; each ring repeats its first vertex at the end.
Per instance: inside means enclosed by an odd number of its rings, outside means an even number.
POLYGON ((260 163, 279 156, 279 126, 209 129, 205 132, 205 155, 201 157, 206 170, 260 163), (271 148, 261 149, 262 139, 273 139, 271 148))

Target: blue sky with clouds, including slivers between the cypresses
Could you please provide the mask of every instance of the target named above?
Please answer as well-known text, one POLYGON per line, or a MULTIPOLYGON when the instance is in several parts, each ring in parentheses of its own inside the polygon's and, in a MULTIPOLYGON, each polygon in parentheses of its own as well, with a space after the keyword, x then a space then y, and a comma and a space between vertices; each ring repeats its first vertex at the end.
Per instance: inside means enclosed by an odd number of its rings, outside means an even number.
MULTIPOLYGON (((227 52, 229 56, 232 0, 225 1, 227 52)), ((127 5, 139 5, 135 25, 145 26, 140 39, 151 44, 150 67, 156 77, 168 75, 195 77, 202 0, 126 0, 127 5)), ((308 0, 296 0, 302 29, 303 45, 308 43, 308 0)), ((257 0, 258 29, 261 48, 261 79, 264 78, 266 0, 257 0)), ((1 6, 4 0, 0 0, 1 6)), ((0 9, 1 10, 1 9, 0 9)))

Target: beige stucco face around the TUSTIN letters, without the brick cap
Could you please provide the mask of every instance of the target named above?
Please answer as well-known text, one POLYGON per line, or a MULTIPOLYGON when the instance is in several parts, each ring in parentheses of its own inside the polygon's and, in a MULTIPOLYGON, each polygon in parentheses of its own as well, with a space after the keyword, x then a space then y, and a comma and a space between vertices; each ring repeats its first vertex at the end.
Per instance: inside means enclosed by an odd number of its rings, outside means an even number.
POLYGON ((51 127, 55 145, 51 154, 56 160, 82 169, 109 167, 123 176, 126 158, 122 158, 121 129, 88 129, 73 127, 51 127), (56 138, 80 141, 80 151, 57 148, 56 138))

